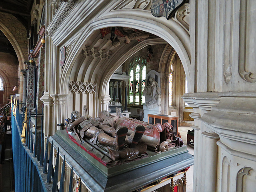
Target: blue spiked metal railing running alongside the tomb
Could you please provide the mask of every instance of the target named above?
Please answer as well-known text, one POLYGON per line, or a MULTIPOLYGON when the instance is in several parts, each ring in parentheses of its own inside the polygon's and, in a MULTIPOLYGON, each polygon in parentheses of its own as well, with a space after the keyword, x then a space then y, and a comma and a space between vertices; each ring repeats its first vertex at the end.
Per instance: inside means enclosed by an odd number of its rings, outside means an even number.
MULTIPOLYGON (((12 112, 12 152, 14 163, 15 191, 18 192, 63 192, 63 181, 65 169, 62 168, 60 177, 60 190, 58 189, 58 162, 59 151, 56 159, 55 170, 53 168, 53 149, 51 144, 50 158, 48 159, 47 139, 44 151, 43 115, 28 116, 28 126, 26 129, 26 143, 22 144, 21 133, 24 121, 24 110, 20 110, 17 105, 16 115, 12 112), (31 128, 31 117, 35 117, 35 136, 33 142, 33 129, 31 128), (42 120, 41 133, 37 131, 37 118, 42 120), (56 174, 54 174, 56 173, 56 174), (52 182, 53 180, 53 182, 52 182)), ((12 105, 14 107, 14 105, 12 105)), ((62 167, 65 164, 65 156, 62 167)), ((72 174, 72 173, 71 173, 72 174)), ((69 191, 72 191, 72 176, 70 176, 69 191)))

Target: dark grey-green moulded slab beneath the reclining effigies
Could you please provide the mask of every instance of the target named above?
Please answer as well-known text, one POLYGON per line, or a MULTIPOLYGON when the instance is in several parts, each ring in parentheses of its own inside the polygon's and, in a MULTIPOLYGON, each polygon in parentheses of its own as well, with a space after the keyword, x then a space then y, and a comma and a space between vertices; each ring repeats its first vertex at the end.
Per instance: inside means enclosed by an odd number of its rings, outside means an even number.
POLYGON ((70 140, 66 130, 49 138, 86 186, 95 192, 129 192, 193 165, 186 146, 167 152, 147 151, 148 157, 107 168, 70 140))

